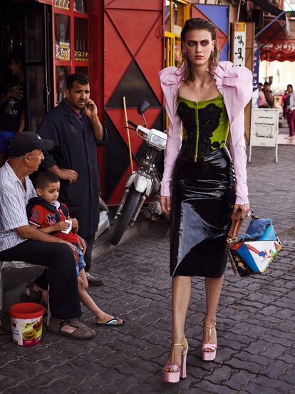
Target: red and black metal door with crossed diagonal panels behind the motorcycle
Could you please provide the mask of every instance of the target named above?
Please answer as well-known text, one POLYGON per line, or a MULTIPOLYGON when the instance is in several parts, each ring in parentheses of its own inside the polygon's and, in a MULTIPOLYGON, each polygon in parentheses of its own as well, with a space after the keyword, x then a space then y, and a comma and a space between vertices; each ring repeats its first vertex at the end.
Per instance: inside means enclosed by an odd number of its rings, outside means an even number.
MULTIPOLYGON (((105 146, 104 197, 109 205, 120 203, 130 174, 128 140, 122 97, 128 118, 141 123, 136 106, 150 102, 148 126, 162 128, 162 91, 158 71, 163 67, 163 1, 105 0, 104 4, 104 108, 109 141, 105 146)), ((130 131, 133 167, 146 144, 130 131)))

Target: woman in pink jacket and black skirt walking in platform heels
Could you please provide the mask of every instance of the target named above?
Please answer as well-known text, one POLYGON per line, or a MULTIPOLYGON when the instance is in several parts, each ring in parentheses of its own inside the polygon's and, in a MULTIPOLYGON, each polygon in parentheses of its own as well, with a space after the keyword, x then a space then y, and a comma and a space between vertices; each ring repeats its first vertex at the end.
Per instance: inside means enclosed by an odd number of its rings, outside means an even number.
POLYGON ((216 313, 231 214, 244 218, 249 212, 244 106, 252 97, 252 73, 229 61, 217 62, 216 29, 205 19, 187 20, 180 68, 160 71, 169 116, 161 206, 171 215, 173 321, 163 378, 171 383, 186 377, 185 318, 192 276, 204 277, 206 287, 201 358, 216 356, 216 313))

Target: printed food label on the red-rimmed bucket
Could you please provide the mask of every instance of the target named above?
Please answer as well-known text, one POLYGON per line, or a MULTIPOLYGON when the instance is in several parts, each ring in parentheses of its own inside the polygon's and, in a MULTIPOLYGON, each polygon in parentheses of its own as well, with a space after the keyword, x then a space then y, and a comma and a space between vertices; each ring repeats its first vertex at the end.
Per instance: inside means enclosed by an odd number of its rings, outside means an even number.
POLYGON ((42 339, 41 318, 20 319, 11 316, 12 340, 16 345, 31 346, 36 345, 42 339))

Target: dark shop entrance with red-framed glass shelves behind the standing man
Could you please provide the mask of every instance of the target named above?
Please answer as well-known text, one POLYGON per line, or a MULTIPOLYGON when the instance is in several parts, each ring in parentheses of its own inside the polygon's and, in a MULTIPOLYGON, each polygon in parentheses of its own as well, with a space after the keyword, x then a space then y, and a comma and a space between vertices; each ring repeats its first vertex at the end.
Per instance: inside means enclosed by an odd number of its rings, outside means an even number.
POLYGON ((9 57, 24 59, 26 129, 36 131, 44 113, 61 101, 66 77, 89 75, 86 0, 1 1, 0 83, 9 57))

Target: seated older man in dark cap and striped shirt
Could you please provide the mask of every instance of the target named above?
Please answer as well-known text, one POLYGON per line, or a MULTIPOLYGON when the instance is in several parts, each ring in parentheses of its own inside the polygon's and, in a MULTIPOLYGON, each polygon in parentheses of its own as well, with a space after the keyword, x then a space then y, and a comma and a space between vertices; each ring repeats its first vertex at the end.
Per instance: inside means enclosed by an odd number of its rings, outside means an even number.
MULTIPOLYGON (((81 323, 81 304, 76 277, 76 250, 71 243, 29 226, 26 203, 36 196, 29 174, 43 160, 42 150, 53 141, 24 131, 10 143, 9 160, 0 168, 0 260, 26 261, 46 266, 35 281, 49 283, 51 319, 48 330, 75 339, 91 339, 95 331, 81 323)), ((83 240, 81 240, 83 242, 83 240)))

